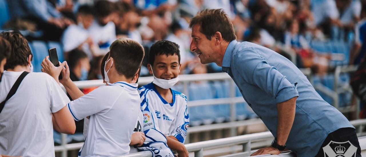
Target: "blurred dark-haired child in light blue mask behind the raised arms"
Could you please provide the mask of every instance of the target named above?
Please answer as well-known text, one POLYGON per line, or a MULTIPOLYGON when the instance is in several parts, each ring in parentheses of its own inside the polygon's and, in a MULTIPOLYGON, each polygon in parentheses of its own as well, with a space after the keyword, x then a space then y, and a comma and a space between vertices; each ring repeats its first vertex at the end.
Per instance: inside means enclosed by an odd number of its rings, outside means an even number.
POLYGON ((68 55, 71 81, 85 81, 90 70, 90 60, 84 51, 74 49, 68 55))

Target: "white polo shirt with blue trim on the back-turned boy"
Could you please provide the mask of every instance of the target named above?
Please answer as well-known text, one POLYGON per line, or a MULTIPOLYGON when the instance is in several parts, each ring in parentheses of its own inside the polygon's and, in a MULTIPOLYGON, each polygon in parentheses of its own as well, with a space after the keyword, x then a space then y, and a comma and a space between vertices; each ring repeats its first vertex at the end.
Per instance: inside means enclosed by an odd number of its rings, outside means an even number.
POLYGON ((80 156, 128 154, 140 109, 137 84, 103 85, 67 106, 75 120, 90 116, 80 156))

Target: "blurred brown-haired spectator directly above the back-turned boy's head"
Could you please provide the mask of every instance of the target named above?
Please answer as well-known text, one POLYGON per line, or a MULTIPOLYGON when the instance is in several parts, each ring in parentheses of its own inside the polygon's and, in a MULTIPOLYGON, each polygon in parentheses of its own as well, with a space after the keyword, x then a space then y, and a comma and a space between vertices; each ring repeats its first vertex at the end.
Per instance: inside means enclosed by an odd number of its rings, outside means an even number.
POLYGON ((115 18, 117 38, 128 37, 142 44, 141 34, 138 26, 141 24, 141 17, 137 10, 126 2, 116 2, 116 8, 119 18, 115 18))

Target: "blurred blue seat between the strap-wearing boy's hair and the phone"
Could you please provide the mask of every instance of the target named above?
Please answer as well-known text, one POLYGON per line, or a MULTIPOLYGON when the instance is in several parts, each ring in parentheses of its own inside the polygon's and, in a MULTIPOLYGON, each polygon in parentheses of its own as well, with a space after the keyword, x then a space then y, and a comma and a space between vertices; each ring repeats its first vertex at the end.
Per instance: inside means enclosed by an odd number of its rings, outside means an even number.
POLYGON ((48 46, 44 41, 36 41, 29 43, 33 49, 33 60, 34 60, 34 72, 41 72, 41 63, 42 60, 48 56, 48 46))

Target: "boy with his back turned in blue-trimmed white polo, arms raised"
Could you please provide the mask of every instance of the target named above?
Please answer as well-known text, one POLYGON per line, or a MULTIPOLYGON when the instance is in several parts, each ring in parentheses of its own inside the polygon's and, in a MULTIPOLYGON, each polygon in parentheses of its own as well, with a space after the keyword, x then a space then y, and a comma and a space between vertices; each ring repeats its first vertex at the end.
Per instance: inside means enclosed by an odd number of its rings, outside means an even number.
MULTIPOLYGON (((74 101, 67 106, 75 120, 87 116, 89 124, 86 139, 79 156, 119 156, 130 151, 130 138, 139 113, 137 73, 144 50, 141 44, 130 39, 118 39, 110 47, 104 66, 108 86, 100 86, 89 94, 83 93, 69 78, 69 69, 63 70, 60 82, 74 101)), ((55 66, 46 58, 42 61, 44 72, 55 79, 55 66)))

